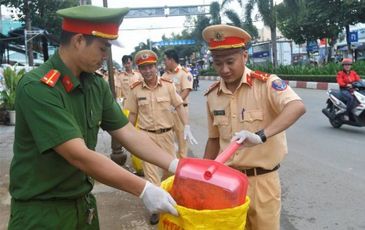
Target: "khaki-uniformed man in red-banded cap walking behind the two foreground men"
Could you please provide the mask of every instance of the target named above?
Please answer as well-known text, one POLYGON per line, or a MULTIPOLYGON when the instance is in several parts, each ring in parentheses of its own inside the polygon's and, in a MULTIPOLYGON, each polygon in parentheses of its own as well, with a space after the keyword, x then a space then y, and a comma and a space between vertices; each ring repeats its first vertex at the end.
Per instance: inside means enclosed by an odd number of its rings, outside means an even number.
MULTIPOLYGON (((175 157, 174 135, 172 132, 173 117, 171 107, 176 109, 179 119, 188 127, 187 136, 184 138, 194 139, 188 125, 188 117, 183 107, 181 97, 176 93, 174 84, 157 76, 157 55, 152 50, 141 50, 135 55, 135 62, 143 76, 131 86, 131 92, 125 103, 129 110, 129 120, 148 135, 158 146, 175 157)), ((159 185, 161 171, 156 165, 143 162, 143 171, 147 180, 159 185)), ((164 172, 167 177, 167 171, 164 172)), ((158 222, 157 216, 152 215, 151 224, 158 222)))

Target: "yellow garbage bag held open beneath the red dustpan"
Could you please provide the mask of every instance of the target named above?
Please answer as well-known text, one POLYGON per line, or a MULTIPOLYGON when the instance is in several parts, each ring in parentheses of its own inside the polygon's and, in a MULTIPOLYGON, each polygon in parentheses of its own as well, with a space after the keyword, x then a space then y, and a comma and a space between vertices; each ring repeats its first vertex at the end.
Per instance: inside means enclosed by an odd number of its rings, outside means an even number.
MULTIPOLYGON (((174 177, 169 177, 161 183, 161 187, 170 191, 174 177)), ((189 188, 186 188, 189 189, 189 188)), ((159 230, 243 230, 246 225, 246 217, 250 198, 246 196, 243 205, 222 210, 195 210, 177 206, 179 216, 168 213, 160 215, 159 230)))

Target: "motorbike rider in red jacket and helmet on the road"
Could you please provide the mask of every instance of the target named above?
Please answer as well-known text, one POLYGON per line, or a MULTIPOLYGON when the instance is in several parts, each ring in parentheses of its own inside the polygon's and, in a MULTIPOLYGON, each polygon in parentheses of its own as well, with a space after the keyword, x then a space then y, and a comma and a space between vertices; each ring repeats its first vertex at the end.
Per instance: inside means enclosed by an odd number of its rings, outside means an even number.
POLYGON ((337 73, 336 80, 341 90, 342 101, 346 104, 346 115, 349 116, 353 106, 352 83, 360 81, 361 78, 354 70, 351 70, 351 58, 344 58, 341 64, 342 70, 337 73))

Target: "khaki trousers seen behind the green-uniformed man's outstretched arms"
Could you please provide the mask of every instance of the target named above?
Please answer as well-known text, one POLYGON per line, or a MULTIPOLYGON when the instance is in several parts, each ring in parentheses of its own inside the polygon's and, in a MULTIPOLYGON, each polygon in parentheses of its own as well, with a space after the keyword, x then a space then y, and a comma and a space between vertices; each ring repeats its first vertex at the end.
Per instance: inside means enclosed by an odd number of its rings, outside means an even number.
MULTIPOLYGON (((175 156, 174 134, 172 130, 161 134, 155 134, 144 130, 141 131, 145 132, 160 148, 170 153, 172 156, 175 156)), ((156 165, 143 161, 142 166, 146 180, 157 186, 160 186, 162 177, 167 177, 168 172, 156 165)))

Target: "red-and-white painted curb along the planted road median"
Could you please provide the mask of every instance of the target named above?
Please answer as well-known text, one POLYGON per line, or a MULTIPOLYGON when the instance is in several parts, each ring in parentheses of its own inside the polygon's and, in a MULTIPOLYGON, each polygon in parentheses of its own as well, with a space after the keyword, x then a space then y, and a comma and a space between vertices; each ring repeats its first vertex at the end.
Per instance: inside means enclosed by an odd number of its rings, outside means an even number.
MULTIPOLYGON (((199 76, 201 80, 209 80, 209 81, 218 81, 220 77, 218 76, 199 76)), ((302 88, 302 89, 319 89, 319 90, 328 90, 328 89, 339 89, 337 83, 329 83, 329 82, 312 82, 312 81, 287 81, 288 85, 292 88, 302 88)))

